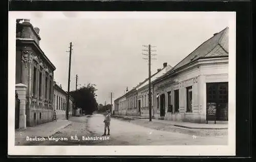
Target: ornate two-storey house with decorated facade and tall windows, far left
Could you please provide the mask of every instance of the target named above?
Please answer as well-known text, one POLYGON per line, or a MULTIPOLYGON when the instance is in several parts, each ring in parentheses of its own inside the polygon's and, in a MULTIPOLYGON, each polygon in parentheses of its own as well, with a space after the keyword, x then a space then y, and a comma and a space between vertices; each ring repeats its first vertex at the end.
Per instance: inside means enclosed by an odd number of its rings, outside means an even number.
POLYGON ((56 67, 39 47, 39 29, 29 19, 16 20, 15 128, 53 121, 56 67))

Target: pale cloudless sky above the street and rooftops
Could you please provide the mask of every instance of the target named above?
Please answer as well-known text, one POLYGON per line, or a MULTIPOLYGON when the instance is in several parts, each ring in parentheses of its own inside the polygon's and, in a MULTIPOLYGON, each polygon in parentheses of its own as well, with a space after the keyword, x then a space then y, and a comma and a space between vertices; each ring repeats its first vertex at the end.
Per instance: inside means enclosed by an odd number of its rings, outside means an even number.
MULTIPOLYGON (((26 18, 26 17, 25 17, 26 18)), ((111 102, 148 77, 142 45, 157 54, 151 72, 167 62, 175 66, 201 43, 229 26, 225 13, 31 12, 40 29, 40 48, 55 65, 54 80, 68 90, 69 44, 72 42, 70 91, 96 84, 97 102, 111 102)))

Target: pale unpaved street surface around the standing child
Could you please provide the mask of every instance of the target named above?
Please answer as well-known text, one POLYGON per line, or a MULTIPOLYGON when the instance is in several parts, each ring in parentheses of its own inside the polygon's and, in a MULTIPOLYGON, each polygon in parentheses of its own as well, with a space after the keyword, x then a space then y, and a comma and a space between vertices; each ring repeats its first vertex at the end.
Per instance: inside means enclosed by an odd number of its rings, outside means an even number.
POLYGON ((227 145, 228 141, 227 135, 198 136, 189 131, 162 131, 115 118, 111 118, 110 136, 99 139, 104 132, 103 120, 102 114, 72 117, 69 126, 51 136, 57 138, 56 141, 29 141, 26 145, 227 145))

